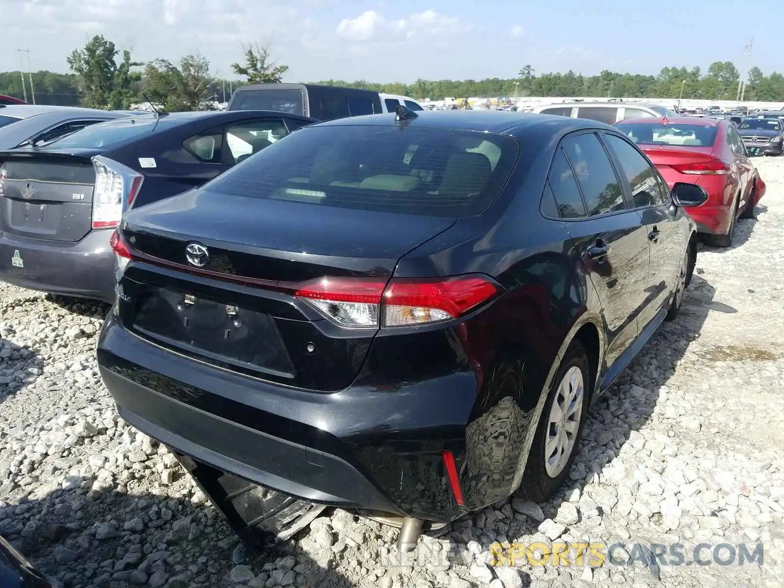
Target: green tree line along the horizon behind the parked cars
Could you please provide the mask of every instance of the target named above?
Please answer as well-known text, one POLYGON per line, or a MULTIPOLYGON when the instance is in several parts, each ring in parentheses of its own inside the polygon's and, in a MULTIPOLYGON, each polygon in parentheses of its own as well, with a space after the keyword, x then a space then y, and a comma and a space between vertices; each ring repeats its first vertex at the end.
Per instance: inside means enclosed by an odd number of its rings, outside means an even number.
MULTIPOLYGON (((38 71, 0 72, 0 94, 31 101, 31 83, 39 104, 61 104, 124 109, 147 99, 168 111, 190 111, 223 100, 223 89, 245 83, 281 82, 289 67, 272 60, 269 45, 242 46, 242 63, 232 64, 241 80, 222 80, 211 73, 209 61, 198 53, 183 56, 177 63, 157 59, 140 63, 132 50, 120 51, 113 42, 96 35, 82 49, 74 49, 67 61, 71 71, 59 74, 38 71), (24 78, 24 82, 23 82, 24 78), (23 88, 24 83, 24 88, 23 88)), ((658 75, 602 71, 598 75, 549 72, 536 74, 525 65, 514 78, 482 80, 424 80, 413 84, 374 83, 365 80, 315 82, 351 88, 404 94, 417 99, 442 100, 445 96, 607 96, 613 98, 673 98, 735 100, 741 74, 730 61, 710 64, 703 74, 699 67, 664 67, 658 75)), ((784 76, 765 75, 752 67, 746 80, 745 100, 784 101, 784 76)))

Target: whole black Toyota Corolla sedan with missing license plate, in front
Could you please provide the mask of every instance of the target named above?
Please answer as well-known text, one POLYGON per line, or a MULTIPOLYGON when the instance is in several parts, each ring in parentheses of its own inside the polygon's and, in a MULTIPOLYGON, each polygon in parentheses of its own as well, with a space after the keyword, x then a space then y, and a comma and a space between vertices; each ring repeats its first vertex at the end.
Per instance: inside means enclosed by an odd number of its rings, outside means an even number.
POLYGON ((311 125, 126 213, 101 376, 240 532, 318 503, 410 538, 543 500, 590 403, 676 316, 681 207, 705 199, 601 122, 311 125))

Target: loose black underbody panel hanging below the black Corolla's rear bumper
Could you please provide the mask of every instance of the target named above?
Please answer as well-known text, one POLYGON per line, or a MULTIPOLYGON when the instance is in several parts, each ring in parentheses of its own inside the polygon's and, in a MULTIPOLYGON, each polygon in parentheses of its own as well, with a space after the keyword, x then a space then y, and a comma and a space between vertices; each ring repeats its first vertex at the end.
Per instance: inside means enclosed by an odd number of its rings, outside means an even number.
POLYGON ((175 453, 201 492, 249 549, 264 552, 291 539, 325 509, 175 453))

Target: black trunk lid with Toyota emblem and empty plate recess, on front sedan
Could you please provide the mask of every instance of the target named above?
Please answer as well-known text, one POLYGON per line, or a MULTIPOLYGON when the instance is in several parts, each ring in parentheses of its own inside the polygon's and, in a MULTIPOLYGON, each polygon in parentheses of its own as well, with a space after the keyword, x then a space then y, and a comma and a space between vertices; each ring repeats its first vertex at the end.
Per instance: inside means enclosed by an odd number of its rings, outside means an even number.
POLYGON ((397 261, 454 219, 190 191, 127 212, 139 262, 122 278, 118 317, 158 345, 275 383, 341 390, 376 328, 343 328, 292 294, 322 277, 387 281, 397 261), (198 204, 198 205, 197 205, 198 204), (203 245, 194 267, 186 247, 203 245))

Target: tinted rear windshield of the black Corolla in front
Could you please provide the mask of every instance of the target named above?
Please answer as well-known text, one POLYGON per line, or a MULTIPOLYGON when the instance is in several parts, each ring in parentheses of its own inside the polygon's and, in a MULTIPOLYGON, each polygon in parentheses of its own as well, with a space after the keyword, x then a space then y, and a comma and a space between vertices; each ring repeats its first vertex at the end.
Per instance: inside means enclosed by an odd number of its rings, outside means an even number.
POLYGON ((344 209, 474 216, 517 161, 510 136, 450 129, 302 129, 206 184, 206 191, 344 209))

